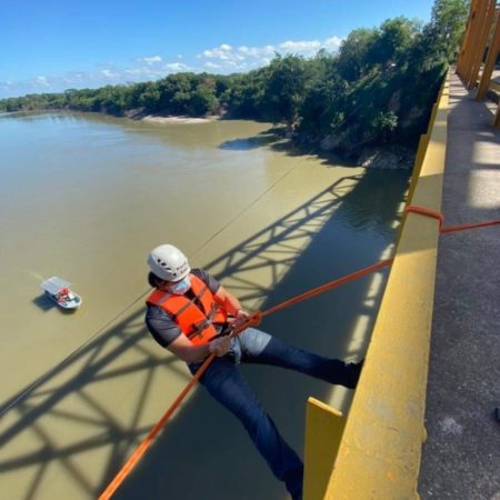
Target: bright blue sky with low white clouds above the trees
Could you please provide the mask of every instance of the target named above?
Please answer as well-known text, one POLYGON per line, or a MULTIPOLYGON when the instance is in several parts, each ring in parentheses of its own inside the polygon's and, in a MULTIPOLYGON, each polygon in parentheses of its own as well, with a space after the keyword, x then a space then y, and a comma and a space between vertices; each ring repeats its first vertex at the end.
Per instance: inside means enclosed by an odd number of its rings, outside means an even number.
POLYGON ((0 98, 231 73, 276 51, 337 50, 352 29, 429 21, 433 0, 2 0, 0 98))

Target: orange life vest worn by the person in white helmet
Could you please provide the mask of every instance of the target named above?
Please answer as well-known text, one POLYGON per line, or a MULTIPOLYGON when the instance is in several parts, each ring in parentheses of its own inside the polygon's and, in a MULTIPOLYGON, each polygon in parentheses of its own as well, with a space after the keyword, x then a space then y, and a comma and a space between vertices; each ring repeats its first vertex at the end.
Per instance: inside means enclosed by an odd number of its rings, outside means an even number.
POLYGON ((198 346, 208 343, 218 334, 214 324, 226 323, 228 314, 200 278, 190 274, 190 279, 194 298, 156 289, 148 297, 147 303, 164 309, 182 333, 198 346))

